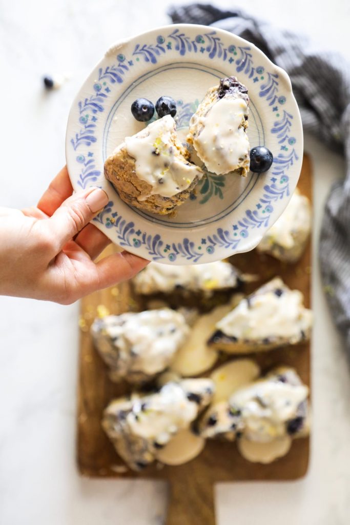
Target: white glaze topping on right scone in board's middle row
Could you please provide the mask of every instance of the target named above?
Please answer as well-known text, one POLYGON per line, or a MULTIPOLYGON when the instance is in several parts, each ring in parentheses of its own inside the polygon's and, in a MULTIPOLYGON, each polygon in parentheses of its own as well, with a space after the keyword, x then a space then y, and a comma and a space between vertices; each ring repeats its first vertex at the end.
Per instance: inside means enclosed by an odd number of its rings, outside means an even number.
POLYGON ((307 337, 311 322, 312 313, 304 308, 302 293, 290 290, 277 277, 242 299, 216 324, 216 329, 234 340, 273 338, 288 340, 292 344, 307 337))

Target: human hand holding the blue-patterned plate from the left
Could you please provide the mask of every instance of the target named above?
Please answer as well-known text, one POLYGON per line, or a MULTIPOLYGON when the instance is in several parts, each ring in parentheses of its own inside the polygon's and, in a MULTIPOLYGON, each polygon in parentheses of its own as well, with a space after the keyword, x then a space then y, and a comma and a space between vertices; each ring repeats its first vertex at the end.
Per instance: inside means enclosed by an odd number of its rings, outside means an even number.
POLYGON ((127 251, 94 263, 111 241, 90 220, 108 196, 100 188, 72 192, 64 167, 36 207, 0 207, 0 294, 70 304, 147 265, 127 251))

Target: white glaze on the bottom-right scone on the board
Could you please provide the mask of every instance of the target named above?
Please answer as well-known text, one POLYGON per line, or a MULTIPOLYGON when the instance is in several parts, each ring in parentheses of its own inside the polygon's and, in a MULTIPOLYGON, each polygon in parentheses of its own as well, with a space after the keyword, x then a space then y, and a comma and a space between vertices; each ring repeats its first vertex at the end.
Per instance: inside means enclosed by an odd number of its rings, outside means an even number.
POLYGON ((305 385, 262 379, 237 390, 231 395, 229 404, 241 410, 243 433, 247 439, 268 442, 285 435, 285 423, 296 416, 308 394, 305 385))

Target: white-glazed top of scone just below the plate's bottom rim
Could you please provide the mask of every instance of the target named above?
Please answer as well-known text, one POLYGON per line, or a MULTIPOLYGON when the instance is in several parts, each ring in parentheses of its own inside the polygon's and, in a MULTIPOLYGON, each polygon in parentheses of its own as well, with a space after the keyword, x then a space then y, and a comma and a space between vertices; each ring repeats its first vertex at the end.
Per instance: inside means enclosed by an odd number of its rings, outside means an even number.
POLYGON ((236 288, 244 277, 229 262, 216 261, 192 266, 171 266, 151 262, 134 277, 135 291, 171 293, 182 289, 205 292, 211 295, 215 290, 236 288))

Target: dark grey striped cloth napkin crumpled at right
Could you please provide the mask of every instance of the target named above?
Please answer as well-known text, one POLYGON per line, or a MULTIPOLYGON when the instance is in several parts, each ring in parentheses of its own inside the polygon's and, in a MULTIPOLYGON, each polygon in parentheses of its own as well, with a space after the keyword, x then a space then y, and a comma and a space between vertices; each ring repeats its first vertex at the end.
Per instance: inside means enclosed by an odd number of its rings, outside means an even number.
POLYGON ((213 24, 259 47, 288 72, 304 130, 344 152, 347 175, 327 198, 319 255, 324 290, 350 359, 350 65, 337 53, 314 49, 304 36, 241 10, 192 4, 171 8, 169 15, 174 23, 213 24))

